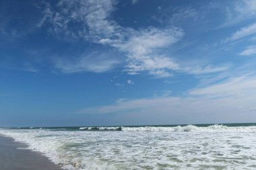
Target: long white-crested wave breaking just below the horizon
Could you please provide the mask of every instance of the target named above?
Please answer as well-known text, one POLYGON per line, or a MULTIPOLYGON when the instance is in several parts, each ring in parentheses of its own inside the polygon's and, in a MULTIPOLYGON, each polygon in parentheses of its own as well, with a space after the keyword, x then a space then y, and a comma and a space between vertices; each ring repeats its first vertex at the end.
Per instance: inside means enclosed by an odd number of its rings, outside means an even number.
POLYGON ((81 127, 79 130, 114 130, 114 131, 153 131, 153 132, 256 132, 256 126, 224 126, 214 124, 212 126, 199 127, 187 126, 99 126, 81 127))

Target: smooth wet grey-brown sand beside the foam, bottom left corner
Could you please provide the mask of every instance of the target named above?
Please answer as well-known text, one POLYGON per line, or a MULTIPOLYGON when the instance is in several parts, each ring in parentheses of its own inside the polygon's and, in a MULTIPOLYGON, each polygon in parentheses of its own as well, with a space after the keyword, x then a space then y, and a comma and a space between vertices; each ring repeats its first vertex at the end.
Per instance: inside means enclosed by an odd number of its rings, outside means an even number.
POLYGON ((13 142, 12 138, 0 134, 1 170, 61 170, 61 167, 40 153, 17 148, 26 148, 26 144, 13 142))

